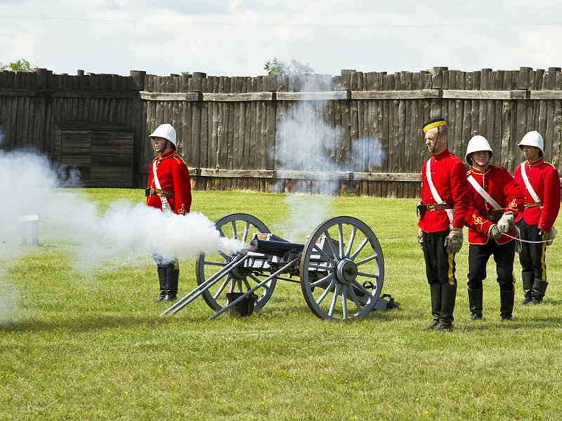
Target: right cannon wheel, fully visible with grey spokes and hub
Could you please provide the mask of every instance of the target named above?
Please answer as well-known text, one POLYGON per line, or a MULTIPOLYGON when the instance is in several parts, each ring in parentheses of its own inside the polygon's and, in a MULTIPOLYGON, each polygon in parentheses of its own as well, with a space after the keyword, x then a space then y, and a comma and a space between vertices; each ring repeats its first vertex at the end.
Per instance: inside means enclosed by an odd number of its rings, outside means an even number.
POLYGON ((320 319, 365 317, 381 295, 381 246, 372 230, 357 218, 331 218, 308 237, 300 275, 306 304, 320 319))

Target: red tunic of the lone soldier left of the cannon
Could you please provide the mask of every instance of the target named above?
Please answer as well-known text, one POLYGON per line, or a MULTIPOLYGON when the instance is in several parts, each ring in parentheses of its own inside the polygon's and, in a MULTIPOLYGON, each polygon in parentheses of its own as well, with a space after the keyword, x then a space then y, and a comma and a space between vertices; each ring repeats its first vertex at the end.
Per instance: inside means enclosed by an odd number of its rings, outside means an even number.
MULTIPOLYGON (((156 189, 154 182, 154 173, 152 168, 156 162, 156 173, 160 188, 174 192, 174 197, 168 197, 168 203, 174 213, 188 213, 191 208, 191 183, 189 180, 188 166, 176 151, 171 150, 164 155, 158 155, 152 163, 148 171, 148 187, 156 189)), ((162 209, 162 201, 159 196, 152 194, 146 198, 147 206, 162 209)))

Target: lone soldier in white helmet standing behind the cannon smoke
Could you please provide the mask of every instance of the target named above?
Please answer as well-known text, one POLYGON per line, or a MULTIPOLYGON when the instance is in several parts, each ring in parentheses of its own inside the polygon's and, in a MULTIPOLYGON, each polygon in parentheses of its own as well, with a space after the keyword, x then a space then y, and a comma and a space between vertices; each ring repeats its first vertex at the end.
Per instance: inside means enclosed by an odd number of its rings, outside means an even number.
MULTIPOLYGON (((150 164, 146 204, 164 213, 185 215, 191 207, 191 183, 188 166, 176 154, 176 131, 162 124, 150 135, 158 156, 150 164)), ((178 295, 178 259, 169 260, 153 250, 158 268, 160 294, 157 302, 176 300, 178 295)))

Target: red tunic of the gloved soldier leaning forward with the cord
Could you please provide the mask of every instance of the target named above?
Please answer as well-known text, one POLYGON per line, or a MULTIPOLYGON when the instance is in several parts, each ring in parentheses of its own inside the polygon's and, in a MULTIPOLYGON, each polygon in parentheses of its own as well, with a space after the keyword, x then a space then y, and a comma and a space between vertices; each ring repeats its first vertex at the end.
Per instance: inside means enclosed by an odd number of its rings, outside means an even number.
MULTIPOLYGON (((523 193, 515 182, 511 174, 502 166, 489 165, 483 172, 476 168, 466 173, 466 176, 472 175, 474 180, 478 182, 486 193, 497 201, 497 204, 505 208, 505 212, 513 212, 514 216, 523 210, 523 193)), ((466 213, 466 225, 469 227, 469 243, 485 244, 490 239, 488 230, 492 224, 496 224, 497 220, 490 221, 486 215, 491 215, 494 207, 490 205, 479 194, 469 182, 469 195, 471 203, 469 211, 466 213)), ((514 229, 510 229, 511 236, 517 236, 514 229)), ((496 240, 498 244, 509 243, 513 241, 509 236, 502 235, 496 240)))

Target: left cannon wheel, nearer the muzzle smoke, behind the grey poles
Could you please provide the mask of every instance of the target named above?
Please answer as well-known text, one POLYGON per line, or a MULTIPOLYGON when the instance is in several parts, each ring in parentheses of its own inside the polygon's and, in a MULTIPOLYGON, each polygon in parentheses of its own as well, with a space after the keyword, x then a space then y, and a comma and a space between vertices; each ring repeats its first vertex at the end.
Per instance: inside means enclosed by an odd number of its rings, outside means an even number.
MULTIPOLYGON (((258 218, 247 213, 231 213, 218 218, 215 227, 229 239, 237 239, 246 244, 251 241, 251 236, 256 232, 269 233, 268 227, 258 218)), ((209 279, 213 274, 225 267, 232 260, 232 256, 226 250, 217 250, 215 253, 200 253, 195 261, 197 274, 197 285, 209 279)), ((221 281, 205 290, 203 298, 207 305, 218 312, 228 303, 227 293, 244 293, 257 283, 266 279, 266 276, 250 273, 247 269, 235 267, 221 281)), ((256 290, 258 299, 254 303, 254 309, 261 309, 271 297, 275 288, 275 279, 266 283, 265 286, 256 290)))

